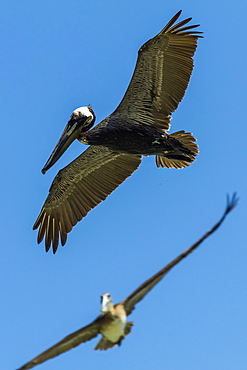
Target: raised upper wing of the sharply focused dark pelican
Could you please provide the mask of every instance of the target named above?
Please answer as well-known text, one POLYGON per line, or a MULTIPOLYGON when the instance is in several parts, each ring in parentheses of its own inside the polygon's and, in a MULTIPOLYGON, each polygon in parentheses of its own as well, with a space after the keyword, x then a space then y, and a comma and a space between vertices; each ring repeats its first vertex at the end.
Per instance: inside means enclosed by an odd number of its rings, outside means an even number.
POLYGON ((179 11, 154 38, 138 52, 129 87, 112 117, 169 129, 170 114, 177 108, 188 86, 199 25, 184 27, 192 18, 174 25, 179 11))

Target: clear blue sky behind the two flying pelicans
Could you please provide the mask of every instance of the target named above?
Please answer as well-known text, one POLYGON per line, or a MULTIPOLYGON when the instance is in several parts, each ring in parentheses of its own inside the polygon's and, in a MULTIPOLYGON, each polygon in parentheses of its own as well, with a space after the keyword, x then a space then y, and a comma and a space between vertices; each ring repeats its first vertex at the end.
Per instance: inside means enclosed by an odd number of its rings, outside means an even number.
POLYGON ((12 370, 91 322, 101 293, 121 301, 240 202, 223 226, 138 304, 120 348, 97 339, 38 369, 246 369, 245 1, 3 1, 1 31, 1 358, 12 370), (120 102, 137 50, 179 10, 200 23, 191 83, 171 132, 198 139, 184 170, 144 158, 131 178, 69 234, 54 256, 32 225, 74 142, 41 168, 72 110, 97 122, 120 102))

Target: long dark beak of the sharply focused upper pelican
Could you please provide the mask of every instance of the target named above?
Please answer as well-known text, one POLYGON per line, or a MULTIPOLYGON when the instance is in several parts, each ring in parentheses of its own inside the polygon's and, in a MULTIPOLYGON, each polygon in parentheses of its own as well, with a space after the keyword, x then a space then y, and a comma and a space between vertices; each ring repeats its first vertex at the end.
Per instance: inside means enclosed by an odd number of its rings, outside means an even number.
MULTIPOLYGON (((88 120, 90 117, 79 116, 78 114, 72 114, 71 119, 68 121, 57 145, 55 146, 53 152, 51 153, 48 161, 42 168, 41 172, 46 173, 49 168, 51 168, 57 160, 62 156, 70 144, 78 138, 83 128, 88 128, 88 120)), ((86 130, 85 130, 86 131, 86 130)))

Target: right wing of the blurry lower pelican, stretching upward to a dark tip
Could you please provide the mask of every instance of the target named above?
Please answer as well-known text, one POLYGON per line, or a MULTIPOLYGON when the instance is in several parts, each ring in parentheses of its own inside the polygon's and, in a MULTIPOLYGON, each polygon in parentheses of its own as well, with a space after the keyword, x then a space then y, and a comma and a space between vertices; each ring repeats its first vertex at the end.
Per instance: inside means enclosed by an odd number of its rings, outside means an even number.
POLYGON ((204 234, 196 243, 194 243, 190 248, 181 253, 177 258, 168 263, 163 269, 161 269, 157 274, 152 276, 150 279, 146 280, 139 288, 137 288, 133 293, 131 293, 121 304, 124 305, 126 314, 129 315, 134 309, 135 305, 140 302, 145 295, 161 280, 163 277, 182 259, 187 257, 192 253, 199 245, 207 239, 211 234, 213 234, 222 224, 229 212, 237 205, 238 199, 236 193, 233 194, 232 199, 227 197, 227 205, 225 212, 221 219, 206 233, 204 234))

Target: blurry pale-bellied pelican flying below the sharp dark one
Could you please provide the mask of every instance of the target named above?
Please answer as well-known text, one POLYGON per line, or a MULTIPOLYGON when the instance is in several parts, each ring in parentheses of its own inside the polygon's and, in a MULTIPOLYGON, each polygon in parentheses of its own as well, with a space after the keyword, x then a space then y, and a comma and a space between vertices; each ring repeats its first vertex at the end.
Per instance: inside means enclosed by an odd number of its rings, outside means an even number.
POLYGON ((133 326, 133 322, 127 322, 126 318, 135 309, 135 305, 140 302, 174 266, 176 266, 183 258, 187 257, 196 248, 198 248, 198 246, 206 238, 208 238, 220 227, 227 214, 237 205, 237 202, 238 199, 236 193, 233 194, 232 199, 227 197, 227 206, 221 219, 195 244, 181 253, 177 258, 157 272, 157 274, 146 280, 122 302, 113 305, 111 295, 109 293, 102 294, 102 313, 96 318, 96 320, 94 320, 91 324, 84 326, 82 329, 79 329, 78 331, 68 335, 63 340, 50 347, 48 350, 35 357, 18 370, 31 369, 32 367, 41 364, 50 358, 58 356, 81 343, 97 337, 98 334, 101 334, 102 338, 96 345, 96 350, 107 350, 108 348, 115 347, 116 345, 120 346, 122 340, 130 333, 133 326))

